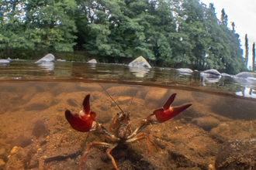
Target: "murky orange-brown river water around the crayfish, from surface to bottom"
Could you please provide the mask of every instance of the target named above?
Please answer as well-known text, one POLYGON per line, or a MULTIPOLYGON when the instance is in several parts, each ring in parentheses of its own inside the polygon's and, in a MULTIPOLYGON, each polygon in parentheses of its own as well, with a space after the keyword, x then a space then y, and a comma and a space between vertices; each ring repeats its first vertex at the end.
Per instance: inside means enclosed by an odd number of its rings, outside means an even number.
MULTIPOLYGON (((150 145, 152 156, 147 155, 146 141, 114 148, 110 154, 119 169, 214 169, 223 142, 256 136, 254 84, 223 78, 209 83, 197 72, 173 69, 61 62, 17 61, 0 66, 0 76, 2 169, 78 169, 85 146, 103 141, 99 134, 75 131, 65 118, 66 109, 82 109, 87 93, 104 127, 120 111, 106 91, 123 110, 134 94, 129 108, 133 131, 172 93, 177 96, 171 106, 192 103, 177 117, 144 129, 161 151, 150 145)), ((91 148, 81 169, 115 168, 106 148, 99 147, 91 148)))

